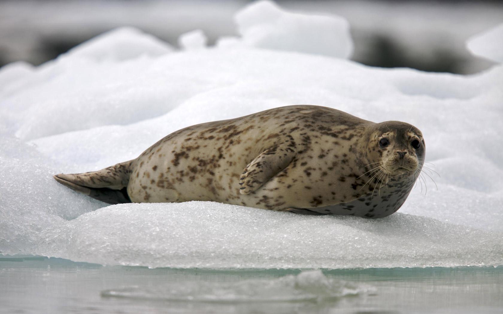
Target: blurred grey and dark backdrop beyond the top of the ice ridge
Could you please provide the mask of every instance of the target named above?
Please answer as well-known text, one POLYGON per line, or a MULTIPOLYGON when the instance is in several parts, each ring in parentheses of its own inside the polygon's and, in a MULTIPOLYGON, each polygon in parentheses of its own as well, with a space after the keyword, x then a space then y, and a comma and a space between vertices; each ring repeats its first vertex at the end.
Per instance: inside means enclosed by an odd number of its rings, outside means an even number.
MULTIPOLYGON (((200 29, 209 45, 235 36, 232 16, 245 0, 0 1, 0 66, 38 65, 113 28, 133 26, 174 46, 200 29)), ((352 59, 383 67, 475 73, 492 63, 471 55, 465 41, 501 23, 500 1, 280 0, 297 12, 337 14, 351 26, 352 59)))

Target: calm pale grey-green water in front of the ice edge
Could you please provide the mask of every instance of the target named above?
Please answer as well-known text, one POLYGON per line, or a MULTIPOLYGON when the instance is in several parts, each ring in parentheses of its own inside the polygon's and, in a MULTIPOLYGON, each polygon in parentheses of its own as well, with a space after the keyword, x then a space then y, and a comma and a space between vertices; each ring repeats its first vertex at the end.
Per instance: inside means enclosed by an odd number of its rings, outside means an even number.
POLYGON ((203 270, 0 258, 6 313, 501 313, 503 267, 203 270))

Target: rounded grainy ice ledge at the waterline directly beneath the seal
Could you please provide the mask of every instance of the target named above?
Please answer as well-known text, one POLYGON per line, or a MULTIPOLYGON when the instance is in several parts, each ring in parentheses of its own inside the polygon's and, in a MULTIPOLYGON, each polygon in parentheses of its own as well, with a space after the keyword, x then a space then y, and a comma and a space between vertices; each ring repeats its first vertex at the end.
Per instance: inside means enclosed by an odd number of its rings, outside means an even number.
POLYGON ((456 267, 503 264, 503 237, 437 220, 304 216, 216 202, 120 204, 70 222, 67 256, 181 268, 456 267))

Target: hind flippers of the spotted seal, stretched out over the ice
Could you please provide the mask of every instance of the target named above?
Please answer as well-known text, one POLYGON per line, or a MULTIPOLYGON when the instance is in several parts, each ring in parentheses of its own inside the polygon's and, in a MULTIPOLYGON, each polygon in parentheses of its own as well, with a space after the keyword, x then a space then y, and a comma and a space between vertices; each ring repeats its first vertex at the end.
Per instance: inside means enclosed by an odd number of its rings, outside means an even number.
POLYGON ((108 168, 73 174, 56 174, 54 179, 79 193, 89 195, 109 204, 130 203, 127 185, 133 160, 108 168))

